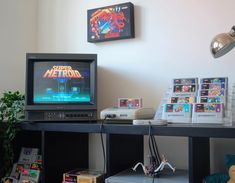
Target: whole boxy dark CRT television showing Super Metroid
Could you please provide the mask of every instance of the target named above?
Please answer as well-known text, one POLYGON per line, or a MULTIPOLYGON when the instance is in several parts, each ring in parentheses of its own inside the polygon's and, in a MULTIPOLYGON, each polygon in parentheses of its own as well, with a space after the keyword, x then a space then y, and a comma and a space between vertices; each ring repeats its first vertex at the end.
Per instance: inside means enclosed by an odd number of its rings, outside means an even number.
POLYGON ((97 119, 97 55, 26 54, 26 120, 97 119))

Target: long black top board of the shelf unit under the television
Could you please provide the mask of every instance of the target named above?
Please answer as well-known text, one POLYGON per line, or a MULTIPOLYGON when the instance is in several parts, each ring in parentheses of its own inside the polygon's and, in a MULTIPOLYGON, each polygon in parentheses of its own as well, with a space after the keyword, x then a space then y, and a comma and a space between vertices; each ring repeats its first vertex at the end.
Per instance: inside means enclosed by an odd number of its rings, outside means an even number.
MULTIPOLYGON (((20 123, 20 128, 32 131, 99 133, 101 124, 81 122, 22 122, 20 123)), ((235 126, 219 124, 168 124, 167 126, 152 125, 151 128, 152 134, 161 136, 235 138, 235 126)), ((102 132, 107 134, 148 135, 149 126, 109 123, 103 124, 102 132)))

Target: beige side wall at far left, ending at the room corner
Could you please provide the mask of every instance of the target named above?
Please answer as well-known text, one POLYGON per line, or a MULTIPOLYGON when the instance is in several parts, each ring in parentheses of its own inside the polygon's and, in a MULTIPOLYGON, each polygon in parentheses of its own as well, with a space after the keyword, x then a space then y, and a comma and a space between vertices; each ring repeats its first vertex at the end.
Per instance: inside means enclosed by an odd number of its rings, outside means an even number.
POLYGON ((0 1, 0 93, 24 91, 25 53, 37 46, 37 1, 0 1))

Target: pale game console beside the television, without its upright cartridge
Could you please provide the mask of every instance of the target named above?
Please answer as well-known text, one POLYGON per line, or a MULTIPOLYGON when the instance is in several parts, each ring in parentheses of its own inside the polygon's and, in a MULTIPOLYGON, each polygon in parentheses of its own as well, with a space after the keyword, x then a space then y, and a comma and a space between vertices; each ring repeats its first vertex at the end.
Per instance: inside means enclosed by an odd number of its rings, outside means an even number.
POLYGON ((155 110, 153 108, 117 108, 111 107, 100 112, 100 119, 112 120, 134 120, 153 119, 155 110))

